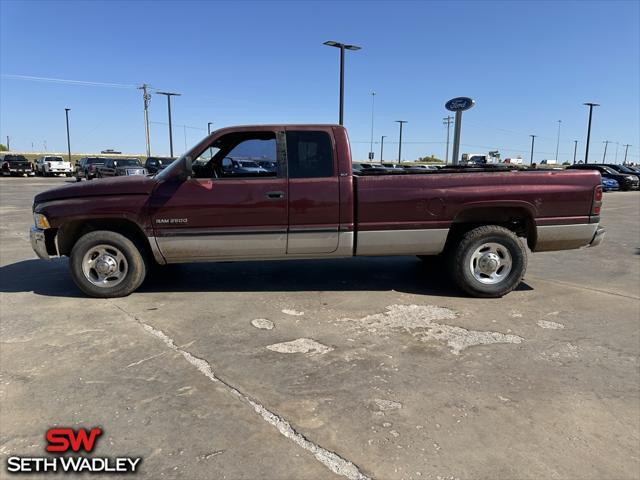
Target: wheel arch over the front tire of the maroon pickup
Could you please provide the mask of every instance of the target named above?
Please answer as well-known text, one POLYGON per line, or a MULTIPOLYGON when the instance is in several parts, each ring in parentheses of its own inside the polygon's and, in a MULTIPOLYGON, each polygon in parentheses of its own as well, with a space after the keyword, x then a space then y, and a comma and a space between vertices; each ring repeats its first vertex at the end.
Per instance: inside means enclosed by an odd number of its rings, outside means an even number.
POLYGON ((135 222, 121 218, 97 218, 65 223, 58 229, 59 254, 68 256, 80 237, 96 230, 109 230, 124 235, 142 249, 145 255, 151 255, 150 258, 153 258, 149 240, 144 232, 135 222))

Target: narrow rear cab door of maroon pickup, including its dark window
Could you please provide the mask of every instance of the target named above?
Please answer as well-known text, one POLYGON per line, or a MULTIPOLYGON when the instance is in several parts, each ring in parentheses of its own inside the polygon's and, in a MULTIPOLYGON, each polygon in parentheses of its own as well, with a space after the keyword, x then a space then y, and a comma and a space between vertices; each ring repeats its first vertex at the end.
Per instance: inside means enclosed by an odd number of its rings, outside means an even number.
POLYGON ((331 253, 338 248, 340 190, 330 127, 286 130, 289 177, 287 254, 331 253))

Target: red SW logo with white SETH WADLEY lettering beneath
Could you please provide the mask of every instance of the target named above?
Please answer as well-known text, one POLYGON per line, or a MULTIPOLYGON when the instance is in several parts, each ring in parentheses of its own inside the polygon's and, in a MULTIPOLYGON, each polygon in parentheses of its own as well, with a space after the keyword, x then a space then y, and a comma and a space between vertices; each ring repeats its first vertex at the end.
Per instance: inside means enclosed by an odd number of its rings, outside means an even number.
MULTIPOLYGON (((91 429, 69 427, 50 428, 45 434, 45 450, 53 454, 91 453, 103 434, 100 427, 91 429)), ((85 455, 52 455, 47 457, 19 457, 7 459, 9 473, 135 473, 141 457, 88 457, 85 455)))

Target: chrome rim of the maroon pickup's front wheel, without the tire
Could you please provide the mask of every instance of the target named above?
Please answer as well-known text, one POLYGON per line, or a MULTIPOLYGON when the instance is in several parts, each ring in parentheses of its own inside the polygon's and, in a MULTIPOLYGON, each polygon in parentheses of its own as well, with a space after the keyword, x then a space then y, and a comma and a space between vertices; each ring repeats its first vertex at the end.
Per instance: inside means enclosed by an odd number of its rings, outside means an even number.
POLYGON ((128 271, 127 258, 113 245, 91 247, 82 258, 82 272, 96 287, 115 287, 126 278, 128 271))

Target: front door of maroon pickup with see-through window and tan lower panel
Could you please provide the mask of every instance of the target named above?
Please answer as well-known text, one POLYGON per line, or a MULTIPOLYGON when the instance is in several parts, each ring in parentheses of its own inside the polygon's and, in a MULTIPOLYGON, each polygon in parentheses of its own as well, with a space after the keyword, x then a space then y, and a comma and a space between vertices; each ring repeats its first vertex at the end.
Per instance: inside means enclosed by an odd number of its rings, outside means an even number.
POLYGON ((275 131, 222 134, 193 160, 190 179, 156 189, 151 219, 167 261, 285 256, 287 179, 277 147, 275 131))

